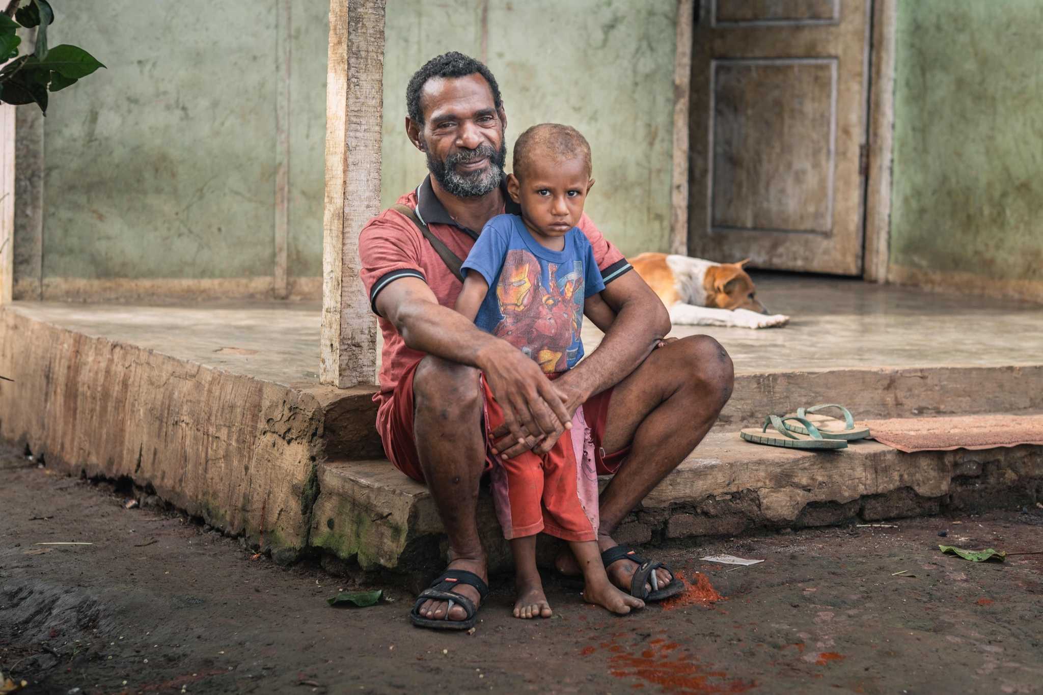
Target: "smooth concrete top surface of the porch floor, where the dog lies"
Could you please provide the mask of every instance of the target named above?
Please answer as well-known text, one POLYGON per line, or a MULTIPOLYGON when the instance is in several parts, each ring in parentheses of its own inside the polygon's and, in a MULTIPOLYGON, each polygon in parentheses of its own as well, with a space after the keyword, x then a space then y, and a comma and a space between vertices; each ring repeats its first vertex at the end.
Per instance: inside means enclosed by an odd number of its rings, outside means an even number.
MULTIPOLYGON (((735 373, 1043 365, 1043 306, 859 280, 754 274, 783 328, 675 326, 728 350, 735 373)), ((16 302, 38 321, 285 386, 318 382, 318 302, 16 302)), ((589 352, 602 333, 584 323, 589 352)))

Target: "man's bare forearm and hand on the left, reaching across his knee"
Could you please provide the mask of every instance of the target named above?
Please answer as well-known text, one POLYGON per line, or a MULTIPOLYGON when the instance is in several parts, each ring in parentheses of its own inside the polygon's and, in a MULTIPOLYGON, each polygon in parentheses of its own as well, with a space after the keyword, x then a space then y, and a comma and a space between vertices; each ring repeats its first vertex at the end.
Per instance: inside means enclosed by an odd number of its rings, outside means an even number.
POLYGON ((519 445, 530 435, 553 444, 572 428, 573 412, 539 366, 462 314, 440 305, 423 280, 392 281, 377 296, 377 309, 410 348, 480 369, 519 445))

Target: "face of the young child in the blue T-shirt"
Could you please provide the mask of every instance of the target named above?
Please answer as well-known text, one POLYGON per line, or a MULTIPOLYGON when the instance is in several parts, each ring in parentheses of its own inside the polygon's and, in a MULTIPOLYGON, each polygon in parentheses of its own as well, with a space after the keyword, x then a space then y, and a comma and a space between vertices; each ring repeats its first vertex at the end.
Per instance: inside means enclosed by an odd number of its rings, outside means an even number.
POLYGON ((534 162, 520 174, 507 178, 507 192, 522 205, 522 219, 531 231, 563 237, 579 223, 593 185, 582 157, 534 162))

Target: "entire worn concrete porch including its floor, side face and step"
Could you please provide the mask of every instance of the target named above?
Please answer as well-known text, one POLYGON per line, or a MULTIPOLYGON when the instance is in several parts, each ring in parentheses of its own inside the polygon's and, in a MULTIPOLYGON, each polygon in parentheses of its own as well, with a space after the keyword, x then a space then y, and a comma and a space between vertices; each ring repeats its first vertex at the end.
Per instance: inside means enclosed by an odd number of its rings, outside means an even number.
MULTIPOLYGON (((823 401, 864 418, 1043 411, 1043 307, 856 280, 756 280, 792 323, 675 329, 720 340, 735 390, 621 540, 1043 498, 1043 447, 901 454, 870 442, 817 455, 735 436, 767 413, 823 401)), ((373 389, 318 384, 317 303, 17 302, 0 318, 0 374, 17 379, 0 382, 0 437, 74 472, 130 476, 287 561, 321 549, 369 568, 440 562, 427 490, 379 460, 373 389)), ((590 349, 600 336, 584 340, 590 349)), ((489 501, 482 524, 502 566, 489 501)))

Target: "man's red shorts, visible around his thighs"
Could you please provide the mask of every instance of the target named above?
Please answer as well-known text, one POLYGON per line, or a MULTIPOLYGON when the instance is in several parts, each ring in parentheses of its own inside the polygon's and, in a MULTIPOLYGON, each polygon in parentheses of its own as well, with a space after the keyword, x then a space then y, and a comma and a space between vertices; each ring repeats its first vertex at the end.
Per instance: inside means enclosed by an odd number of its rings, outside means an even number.
MULTIPOLYGON (((420 461, 416 454, 416 444, 413 438, 413 375, 419 361, 407 368, 403 372, 398 384, 391 394, 391 405, 388 409, 388 427, 382 432, 384 441, 384 452, 394 464, 394 467, 409 477, 423 482, 423 471, 420 469, 420 461)), ((485 389, 485 398, 492 399, 489 387, 482 379, 482 387, 485 389)), ((609 475, 615 473, 623 464, 623 461, 630 453, 630 447, 621 449, 613 453, 605 453, 601 446, 601 439, 605 432, 605 421, 608 419, 608 404, 612 399, 612 389, 603 391, 597 396, 592 396, 583 404, 583 416, 590 427, 595 445, 595 463, 599 475, 609 475)), ((481 423, 475 423, 476 427, 485 428, 481 423)), ((488 450, 489 442, 486 441, 488 450)), ((491 464, 486 462, 486 470, 491 464)))

